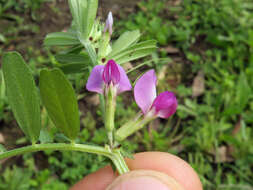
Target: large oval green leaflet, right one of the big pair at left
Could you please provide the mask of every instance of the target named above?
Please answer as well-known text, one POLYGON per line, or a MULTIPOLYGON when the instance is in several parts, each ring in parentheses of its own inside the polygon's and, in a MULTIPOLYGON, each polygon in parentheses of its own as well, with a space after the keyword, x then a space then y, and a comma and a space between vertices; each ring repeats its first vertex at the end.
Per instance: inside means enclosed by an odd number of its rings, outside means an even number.
POLYGON ((68 138, 80 131, 77 98, 70 82, 60 69, 40 72, 40 93, 49 117, 68 138))

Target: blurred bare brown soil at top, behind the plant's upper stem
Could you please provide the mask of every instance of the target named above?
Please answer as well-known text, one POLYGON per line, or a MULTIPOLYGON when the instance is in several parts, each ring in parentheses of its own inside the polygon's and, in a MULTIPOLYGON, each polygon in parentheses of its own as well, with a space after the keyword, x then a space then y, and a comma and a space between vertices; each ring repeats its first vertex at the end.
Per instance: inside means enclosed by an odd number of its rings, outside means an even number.
MULTIPOLYGON (((98 16, 105 19, 108 12, 112 11, 115 17, 119 15, 127 14, 133 11, 133 8, 139 1, 135 0, 100 0, 98 16)), ((43 46, 43 39, 46 34, 56 31, 62 31, 67 29, 71 24, 71 14, 68 7, 68 2, 64 0, 56 0, 53 3, 44 3, 38 11, 36 11, 36 19, 31 17, 29 11, 22 13, 16 12, 15 10, 8 11, 8 14, 14 14, 20 18, 24 18, 24 22, 17 25, 15 20, 12 19, 0 19, 0 26, 6 26, 0 28, 0 33, 6 33, 9 26, 13 26, 18 29, 18 32, 8 36, 12 40, 6 45, 0 42, 0 48, 4 51, 18 50, 22 54, 27 53, 27 47, 34 47, 38 50, 43 46), (64 19, 63 19, 64 18, 64 19), (22 29, 22 26, 30 26, 29 28, 22 29), (38 27, 39 31, 34 32, 32 27, 38 27)))

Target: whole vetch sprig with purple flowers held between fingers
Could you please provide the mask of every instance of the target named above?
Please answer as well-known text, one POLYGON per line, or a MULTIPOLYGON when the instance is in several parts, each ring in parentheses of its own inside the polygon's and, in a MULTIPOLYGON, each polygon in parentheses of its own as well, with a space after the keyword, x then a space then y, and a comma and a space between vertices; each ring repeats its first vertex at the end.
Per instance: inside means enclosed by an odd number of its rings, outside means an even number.
POLYGON ((177 100, 168 91, 156 95, 157 79, 154 70, 150 70, 139 77, 134 87, 135 101, 141 111, 123 126, 115 126, 116 97, 132 89, 121 65, 150 55, 156 49, 156 42, 138 42, 140 32, 128 31, 112 43, 111 12, 106 22, 102 23, 96 19, 97 0, 69 0, 69 5, 73 16, 70 29, 48 34, 45 38, 45 46, 64 46, 64 49, 55 56, 55 68, 41 70, 39 88, 19 53, 9 52, 3 56, 8 101, 18 125, 32 144, 14 150, 2 150, 0 159, 45 150, 81 151, 108 157, 118 173, 123 174, 129 169, 122 156, 120 143, 156 117, 168 118, 174 114, 177 100), (100 95, 108 136, 108 143, 104 146, 76 143, 80 131, 78 103, 65 74, 77 72, 90 72, 86 88, 100 95), (68 139, 67 143, 45 143, 41 140, 41 103, 54 125, 68 139))

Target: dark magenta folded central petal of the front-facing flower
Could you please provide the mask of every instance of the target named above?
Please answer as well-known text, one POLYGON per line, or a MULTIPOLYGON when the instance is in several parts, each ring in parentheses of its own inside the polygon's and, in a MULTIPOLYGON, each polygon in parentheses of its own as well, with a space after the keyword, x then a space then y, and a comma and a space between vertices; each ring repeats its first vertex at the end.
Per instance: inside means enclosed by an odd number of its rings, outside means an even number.
POLYGON ((103 80, 106 84, 110 84, 111 82, 115 85, 120 81, 120 72, 118 65, 114 60, 109 60, 105 65, 103 72, 103 80))

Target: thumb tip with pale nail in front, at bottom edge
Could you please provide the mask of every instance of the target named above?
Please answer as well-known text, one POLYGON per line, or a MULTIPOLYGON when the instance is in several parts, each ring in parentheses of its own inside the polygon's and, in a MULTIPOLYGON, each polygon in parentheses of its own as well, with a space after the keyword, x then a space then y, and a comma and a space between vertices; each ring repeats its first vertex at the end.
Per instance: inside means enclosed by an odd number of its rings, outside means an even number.
POLYGON ((107 190, 183 190, 171 177, 150 170, 135 170, 119 176, 107 190))

